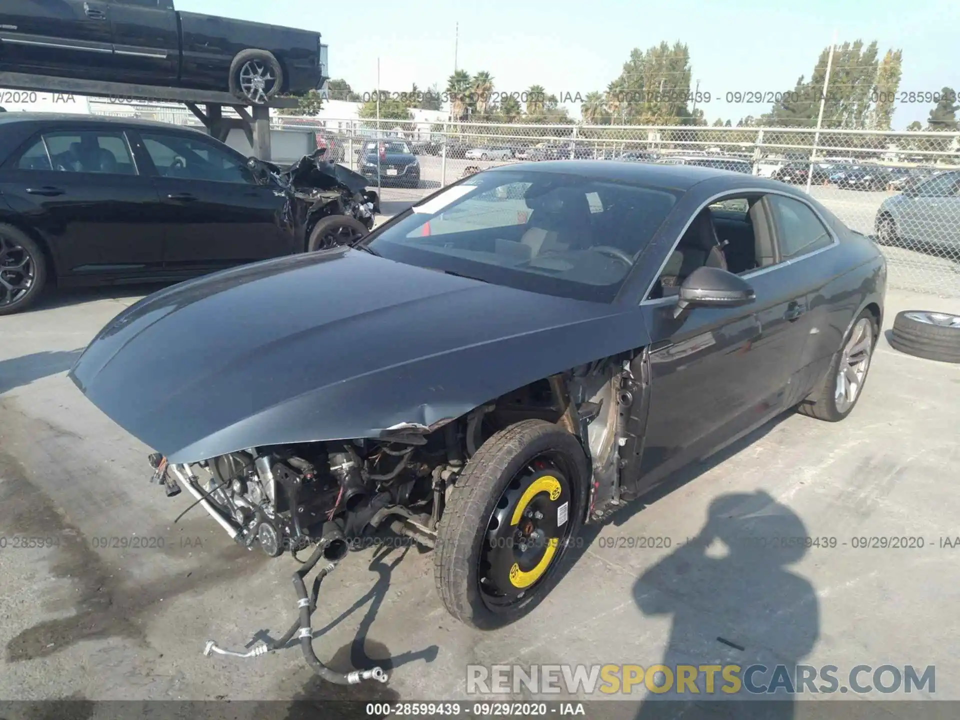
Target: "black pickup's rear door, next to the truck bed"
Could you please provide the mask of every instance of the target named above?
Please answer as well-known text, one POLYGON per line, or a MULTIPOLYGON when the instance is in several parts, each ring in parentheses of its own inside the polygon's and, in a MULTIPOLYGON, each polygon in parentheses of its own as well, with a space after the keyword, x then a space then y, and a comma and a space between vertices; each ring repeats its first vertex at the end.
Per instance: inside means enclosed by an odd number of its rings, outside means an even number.
POLYGON ((170 0, 108 0, 113 52, 129 83, 177 84, 180 34, 170 0))

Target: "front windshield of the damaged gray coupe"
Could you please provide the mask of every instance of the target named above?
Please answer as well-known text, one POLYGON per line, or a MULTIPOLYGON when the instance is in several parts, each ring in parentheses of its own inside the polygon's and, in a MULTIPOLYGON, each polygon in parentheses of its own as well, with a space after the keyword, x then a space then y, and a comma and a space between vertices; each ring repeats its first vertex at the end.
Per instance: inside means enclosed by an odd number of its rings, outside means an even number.
POLYGON ((611 302, 678 197, 562 173, 481 173, 407 210, 368 247, 520 290, 611 302))

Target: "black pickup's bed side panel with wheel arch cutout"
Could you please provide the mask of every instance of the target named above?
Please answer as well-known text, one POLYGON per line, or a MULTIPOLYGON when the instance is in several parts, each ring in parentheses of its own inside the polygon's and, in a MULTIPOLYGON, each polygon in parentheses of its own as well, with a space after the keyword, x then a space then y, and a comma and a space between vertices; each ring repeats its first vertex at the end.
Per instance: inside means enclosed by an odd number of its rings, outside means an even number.
POLYGON ((283 68, 284 91, 305 92, 320 83, 320 36, 306 30, 180 12, 186 85, 227 89, 230 63, 244 50, 269 50, 283 68))

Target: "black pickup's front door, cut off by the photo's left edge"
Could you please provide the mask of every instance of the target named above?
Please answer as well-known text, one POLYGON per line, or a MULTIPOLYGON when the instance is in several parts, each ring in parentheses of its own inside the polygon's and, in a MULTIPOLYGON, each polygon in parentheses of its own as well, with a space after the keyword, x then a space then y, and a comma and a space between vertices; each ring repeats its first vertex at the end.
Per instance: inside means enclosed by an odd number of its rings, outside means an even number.
POLYGON ((0 3, 0 69, 97 80, 116 67, 107 2, 0 3))

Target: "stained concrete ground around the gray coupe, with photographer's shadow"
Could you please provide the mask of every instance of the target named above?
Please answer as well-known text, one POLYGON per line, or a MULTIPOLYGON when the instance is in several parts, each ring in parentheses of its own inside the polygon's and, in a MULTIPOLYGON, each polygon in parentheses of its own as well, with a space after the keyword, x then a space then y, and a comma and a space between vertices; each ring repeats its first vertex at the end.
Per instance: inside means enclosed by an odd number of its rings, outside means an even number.
MULTIPOLYGON (((860 663, 932 664, 933 697, 960 699, 960 547, 943 546, 960 536, 960 366, 885 338, 848 420, 787 415, 685 470, 586 532, 512 627, 451 619, 429 554, 368 549, 324 584, 315 645, 340 670, 384 664, 389 684, 323 684, 298 649, 204 658, 207 638, 238 648, 286 629, 296 564, 239 549, 200 509, 174 524, 191 498, 148 484, 150 448, 65 377, 143 292, 63 293, 0 319, 0 699, 438 700, 464 697, 468 663, 660 660, 832 664, 842 680, 860 663), (707 551, 684 546, 697 536, 707 551), (802 536, 824 540, 773 546, 802 536), (855 546, 890 537, 924 546, 855 546)), ((960 313, 960 300, 891 291, 886 329, 914 307, 960 313)))

